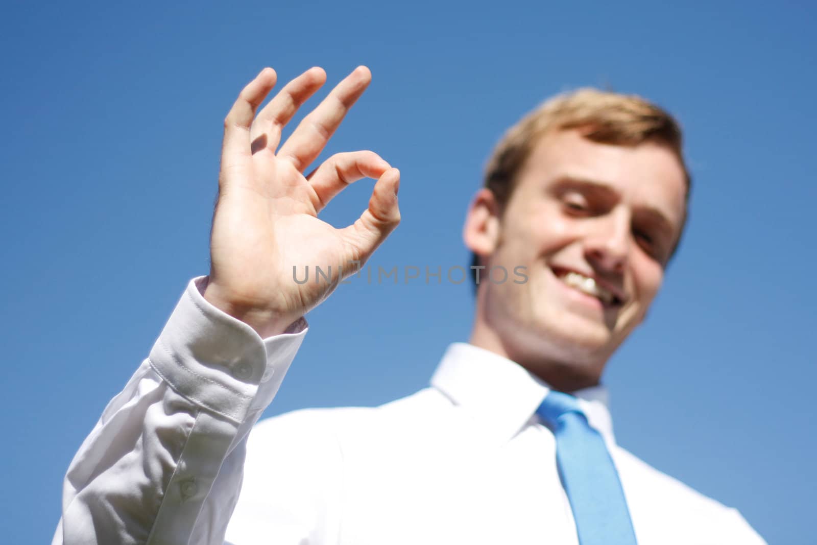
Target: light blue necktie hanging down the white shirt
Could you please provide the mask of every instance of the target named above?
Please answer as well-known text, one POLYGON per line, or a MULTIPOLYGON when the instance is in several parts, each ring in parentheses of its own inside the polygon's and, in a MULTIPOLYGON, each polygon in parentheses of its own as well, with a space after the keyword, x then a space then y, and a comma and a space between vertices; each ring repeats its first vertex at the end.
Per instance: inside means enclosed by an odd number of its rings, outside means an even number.
POLYGON ((587 423, 578 400, 551 391, 536 413, 556 435, 556 464, 573 508, 578 543, 636 543, 618 472, 604 439, 587 423))

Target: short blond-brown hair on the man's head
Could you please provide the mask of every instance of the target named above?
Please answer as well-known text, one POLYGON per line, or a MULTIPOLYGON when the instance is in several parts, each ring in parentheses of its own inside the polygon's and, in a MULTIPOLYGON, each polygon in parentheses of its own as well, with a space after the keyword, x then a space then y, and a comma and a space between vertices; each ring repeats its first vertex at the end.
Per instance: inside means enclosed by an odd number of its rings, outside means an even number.
MULTIPOLYGON (((484 177, 484 187, 497 199, 500 212, 511 197, 516 177, 542 137, 569 129, 579 129, 585 138, 600 144, 634 146, 654 142, 667 146, 684 169, 689 200, 691 176, 684 161, 681 125, 676 119, 641 96, 583 88, 545 101, 502 136, 488 160, 484 177)), ((479 257, 471 255, 472 265, 478 265, 479 257)))

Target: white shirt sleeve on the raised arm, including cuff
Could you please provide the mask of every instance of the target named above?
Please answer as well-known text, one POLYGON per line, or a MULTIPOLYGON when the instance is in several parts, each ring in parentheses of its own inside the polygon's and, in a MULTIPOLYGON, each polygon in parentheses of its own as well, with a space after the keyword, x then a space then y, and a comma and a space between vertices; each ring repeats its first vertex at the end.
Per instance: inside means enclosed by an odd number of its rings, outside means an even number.
POLYGON ((221 544, 248 432, 306 335, 261 339, 193 279, 149 357, 74 456, 53 545, 221 544))

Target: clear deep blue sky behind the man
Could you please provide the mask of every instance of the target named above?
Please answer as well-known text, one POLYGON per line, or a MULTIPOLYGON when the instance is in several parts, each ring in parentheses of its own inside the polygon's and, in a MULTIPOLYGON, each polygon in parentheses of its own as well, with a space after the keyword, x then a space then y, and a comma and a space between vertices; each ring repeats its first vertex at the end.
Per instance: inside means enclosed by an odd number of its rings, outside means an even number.
MULTIPOLYGON (((279 3, 4 6, 4 542, 50 540, 74 452, 207 274, 239 89, 265 65, 280 81, 320 65, 335 83, 365 64, 373 84, 327 154, 371 149, 401 169, 404 220, 374 266, 467 266, 484 159, 555 92, 636 92, 681 118, 690 224, 605 375, 618 440, 770 543, 814 543, 815 7, 279 3)), ((372 185, 327 220, 353 221, 372 185)), ((467 284, 342 287, 308 316, 266 414, 417 390, 467 340, 471 310, 467 284)))

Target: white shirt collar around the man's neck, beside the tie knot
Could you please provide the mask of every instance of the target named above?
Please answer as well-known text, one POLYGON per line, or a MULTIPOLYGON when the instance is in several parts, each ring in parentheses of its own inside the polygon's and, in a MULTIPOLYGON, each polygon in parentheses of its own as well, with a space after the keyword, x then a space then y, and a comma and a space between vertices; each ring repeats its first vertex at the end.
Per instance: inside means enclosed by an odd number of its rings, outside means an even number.
MULTIPOLYGON (((443 355, 431 386, 462 407, 500 442, 539 422, 535 412, 551 388, 520 364, 465 342, 454 342, 443 355)), ((609 444, 615 443, 605 386, 571 392, 587 421, 609 444)))

